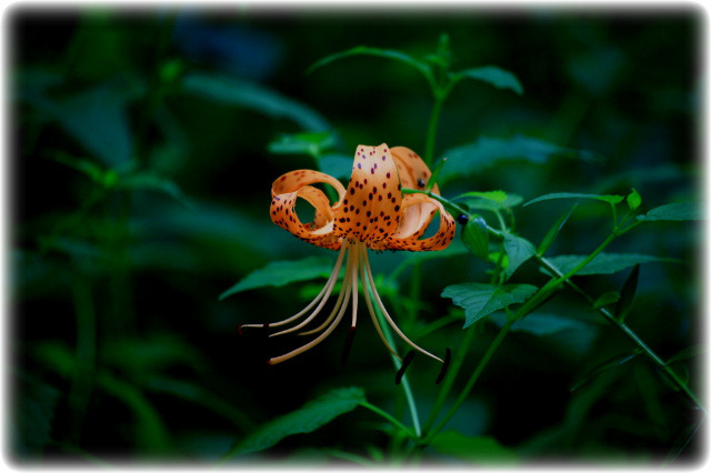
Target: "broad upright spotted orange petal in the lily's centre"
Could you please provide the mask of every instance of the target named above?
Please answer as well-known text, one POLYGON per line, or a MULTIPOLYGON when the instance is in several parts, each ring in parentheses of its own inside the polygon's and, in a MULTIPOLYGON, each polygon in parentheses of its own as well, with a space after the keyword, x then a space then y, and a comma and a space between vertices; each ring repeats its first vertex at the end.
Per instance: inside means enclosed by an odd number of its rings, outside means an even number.
POLYGON ((334 208, 336 235, 379 241, 400 223, 402 193, 392 154, 387 144, 359 145, 342 205, 334 208))

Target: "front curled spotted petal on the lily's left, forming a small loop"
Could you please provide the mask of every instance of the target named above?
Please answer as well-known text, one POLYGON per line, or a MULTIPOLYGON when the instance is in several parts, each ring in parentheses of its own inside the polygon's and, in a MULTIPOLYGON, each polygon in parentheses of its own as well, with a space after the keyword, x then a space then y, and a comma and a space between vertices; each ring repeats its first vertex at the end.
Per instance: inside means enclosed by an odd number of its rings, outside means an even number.
POLYGON ((303 241, 331 250, 341 248, 341 239, 333 234, 333 209, 329 199, 312 185, 302 185, 294 192, 274 195, 271 200, 270 214, 272 222, 303 241), (313 222, 304 224, 299 220, 296 211, 298 198, 313 207, 313 222))

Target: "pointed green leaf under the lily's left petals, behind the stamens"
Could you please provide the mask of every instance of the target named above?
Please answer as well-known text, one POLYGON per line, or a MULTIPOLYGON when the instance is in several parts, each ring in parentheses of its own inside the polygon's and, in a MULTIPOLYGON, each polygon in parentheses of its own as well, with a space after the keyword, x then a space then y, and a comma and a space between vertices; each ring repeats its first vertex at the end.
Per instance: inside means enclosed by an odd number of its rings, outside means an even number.
POLYGON ((249 289, 267 285, 281 286, 297 281, 328 278, 333 270, 333 260, 323 256, 309 256, 298 261, 274 261, 248 274, 240 282, 220 295, 220 300, 249 289))

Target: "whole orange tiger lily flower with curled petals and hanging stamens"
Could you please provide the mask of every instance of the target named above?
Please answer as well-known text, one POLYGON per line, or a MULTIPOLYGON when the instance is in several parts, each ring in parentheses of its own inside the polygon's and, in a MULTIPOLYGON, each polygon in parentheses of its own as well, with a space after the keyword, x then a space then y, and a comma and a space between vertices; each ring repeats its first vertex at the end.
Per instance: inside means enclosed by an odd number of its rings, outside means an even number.
MULTIPOLYGON (((346 264, 346 271, 331 313, 316 329, 300 332, 301 335, 318 334, 318 336, 289 353, 271 358, 269 364, 287 361, 326 340, 343 319, 352 299, 348 348, 358 320, 359 278, 362 282, 365 306, 388 350, 400 359, 383 335, 374 306, 378 306, 388 324, 405 343, 444 363, 439 356, 415 345, 394 323, 378 294, 367 254, 367 249, 435 251, 450 244, 454 238, 455 223, 442 204, 422 193, 403 197, 401 192, 402 185, 424 189, 430 177, 431 172, 427 164, 412 150, 403 147, 389 149, 383 143, 379 147, 358 147, 348 189, 344 189, 336 178, 311 170, 291 171, 274 181, 271 189, 271 220, 306 242, 338 250, 338 259, 321 292, 301 312, 280 322, 246 324, 241 328, 282 326, 297 322, 310 312, 300 323, 272 333, 270 336, 303 329, 326 305, 343 264, 346 264), (311 185, 316 183, 326 183, 336 189, 338 201, 331 204, 320 189, 311 185), (306 200, 314 208, 312 222, 302 223, 299 220, 296 212, 298 198, 306 200), (433 236, 420 240, 437 211, 440 213, 439 231, 433 236)), ((432 192, 439 193, 437 185, 432 187, 432 192)), ((405 360, 405 365, 408 361, 405 360)))

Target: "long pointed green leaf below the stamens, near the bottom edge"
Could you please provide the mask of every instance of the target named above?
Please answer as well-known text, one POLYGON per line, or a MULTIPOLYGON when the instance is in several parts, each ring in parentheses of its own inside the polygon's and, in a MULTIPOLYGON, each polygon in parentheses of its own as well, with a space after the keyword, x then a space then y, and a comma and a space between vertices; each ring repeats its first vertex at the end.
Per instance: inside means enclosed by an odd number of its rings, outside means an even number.
POLYGON ((364 401, 365 393, 360 388, 332 390, 297 411, 262 424, 246 439, 236 442, 223 460, 269 449, 290 435, 313 432, 364 401))

